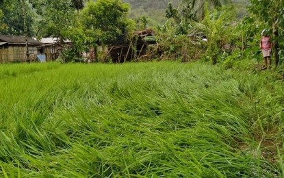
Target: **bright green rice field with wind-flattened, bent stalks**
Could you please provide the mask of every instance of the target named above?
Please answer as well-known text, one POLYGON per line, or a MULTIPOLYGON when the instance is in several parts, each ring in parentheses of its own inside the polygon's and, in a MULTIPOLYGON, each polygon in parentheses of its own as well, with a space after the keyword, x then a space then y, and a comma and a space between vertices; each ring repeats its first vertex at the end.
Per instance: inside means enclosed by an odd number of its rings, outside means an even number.
POLYGON ((276 72, 0 66, 0 177, 284 177, 283 127, 276 72))

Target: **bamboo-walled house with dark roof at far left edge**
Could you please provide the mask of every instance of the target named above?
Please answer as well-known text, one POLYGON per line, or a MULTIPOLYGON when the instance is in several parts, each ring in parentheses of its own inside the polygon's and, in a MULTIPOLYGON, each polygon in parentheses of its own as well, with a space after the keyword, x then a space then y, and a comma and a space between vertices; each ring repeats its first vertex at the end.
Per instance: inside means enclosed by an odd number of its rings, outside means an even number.
POLYGON ((0 62, 32 62, 42 42, 25 36, 0 35, 0 62), (26 47, 27 45, 27 47, 26 47), (28 48, 28 53, 27 53, 28 48))

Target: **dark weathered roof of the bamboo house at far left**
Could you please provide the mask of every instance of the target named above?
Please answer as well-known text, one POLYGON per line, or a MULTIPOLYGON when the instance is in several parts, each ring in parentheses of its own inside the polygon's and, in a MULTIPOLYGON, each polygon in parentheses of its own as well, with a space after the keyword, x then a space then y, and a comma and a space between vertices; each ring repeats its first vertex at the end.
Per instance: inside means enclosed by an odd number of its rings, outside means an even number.
MULTIPOLYGON (((0 35, 1 42, 8 42, 9 44, 25 44, 25 36, 10 36, 10 35, 0 35)), ((28 44, 42 44, 42 42, 38 40, 34 40, 33 38, 27 38, 28 44)))

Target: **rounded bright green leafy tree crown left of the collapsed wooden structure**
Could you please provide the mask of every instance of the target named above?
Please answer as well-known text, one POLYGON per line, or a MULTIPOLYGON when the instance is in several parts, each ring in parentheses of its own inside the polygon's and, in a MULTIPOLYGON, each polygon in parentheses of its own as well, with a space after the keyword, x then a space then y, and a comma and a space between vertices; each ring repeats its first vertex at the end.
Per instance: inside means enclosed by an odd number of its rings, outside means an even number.
POLYGON ((81 24, 89 37, 90 44, 112 44, 127 36, 133 21, 127 18, 129 5, 121 0, 90 1, 81 13, 81 24))

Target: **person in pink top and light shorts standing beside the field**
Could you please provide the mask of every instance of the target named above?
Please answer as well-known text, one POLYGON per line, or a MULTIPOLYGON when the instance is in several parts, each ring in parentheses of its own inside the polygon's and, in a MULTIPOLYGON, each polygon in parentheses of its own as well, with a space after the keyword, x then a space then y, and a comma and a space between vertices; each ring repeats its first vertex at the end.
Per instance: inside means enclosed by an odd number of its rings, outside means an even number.
POLYGON ((263 61, 264 61, 264 66, 263 66, 263 70, 266 68, 270 68, 270 64, 271 64, 271 41, 270 41, 270 36, 268 36, 268 30, 267 29, 263 29, 263 31, 261 32, 261 40, 260 40, 260 44, 259 47, 262 51, 263 54, 263 61))

